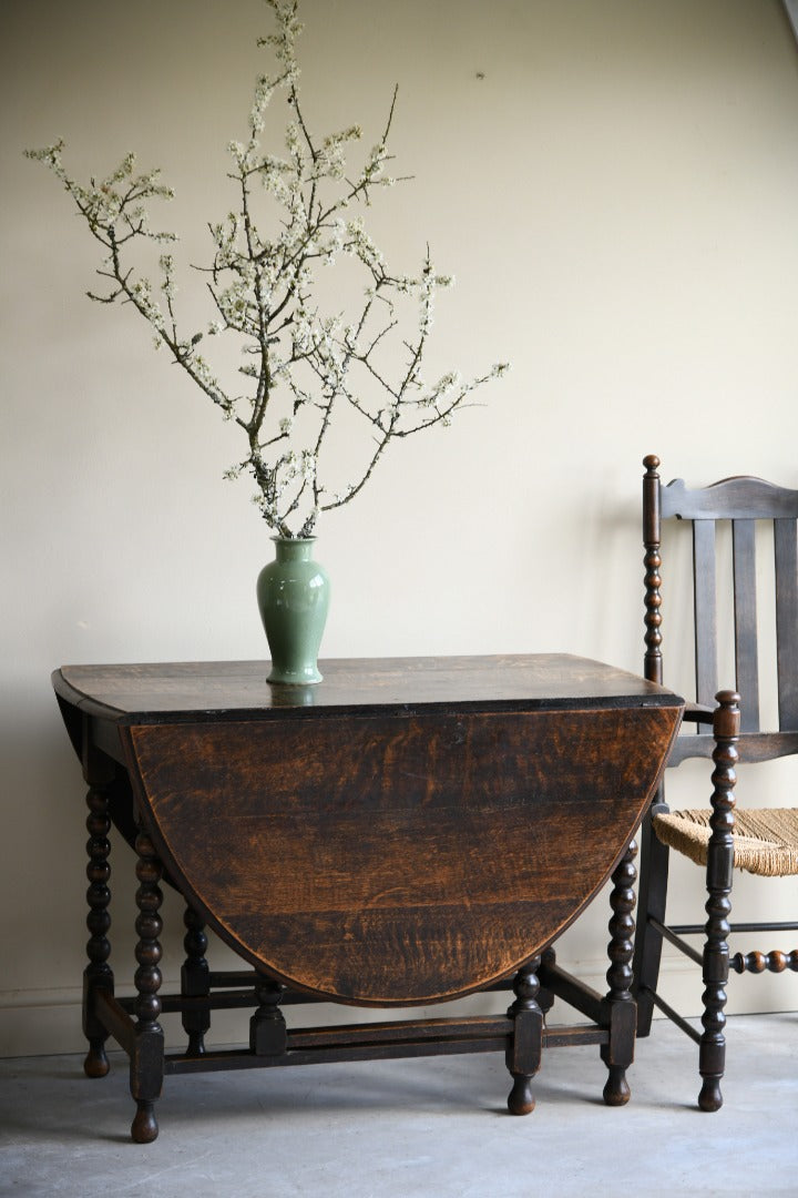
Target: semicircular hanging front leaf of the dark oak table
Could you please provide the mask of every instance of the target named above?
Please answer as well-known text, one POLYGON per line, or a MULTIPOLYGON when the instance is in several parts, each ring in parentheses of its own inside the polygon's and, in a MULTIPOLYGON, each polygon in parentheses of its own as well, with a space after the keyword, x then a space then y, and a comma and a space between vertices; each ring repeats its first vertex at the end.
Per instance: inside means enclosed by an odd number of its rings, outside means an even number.
POLYGON ((211 926, 343 1002, 483 988, 550 943, 633 835, 678 708, 126 730, 159 853, 211 926))

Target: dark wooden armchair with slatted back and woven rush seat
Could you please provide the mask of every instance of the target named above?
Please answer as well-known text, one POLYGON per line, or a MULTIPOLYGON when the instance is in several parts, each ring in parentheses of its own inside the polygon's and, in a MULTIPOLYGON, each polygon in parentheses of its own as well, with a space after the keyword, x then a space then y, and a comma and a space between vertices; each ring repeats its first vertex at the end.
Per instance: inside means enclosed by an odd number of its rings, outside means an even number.
MULTIPOLYGON (((798 752, 798 491, 760 478, 726 478, 712 486, 688 490, 682 479, 662 486, 659 459, 644 459, 642 525, 646 549, 645 676, 663 680, 660 635, 662 522, 676 518, 693 525, 693 591, 696 701, 688 703, 682 727, 668 760, 678 766, 688 757, 712 757, 712 805, 706 811, 671 812, 660 786, 641 829, 641 863, 635 938, 634 978, 638 1035, 648 1035, 657 1006, 700 1045, 699 1096, 702 1111, 723 1102, 720 1081, 725 1064, 724 1006, 729 969, 761 974, 798 972, 798 950, 736 952, 730 960, 727 937, 733 932, 796 931, 798 922, 729 924, 732 866, 767 877, 798 873, 798 809, 735 811, 735 766, 763 762, 798 752), (729 624, 735 642, 736 691, 718 689, 719 622, 715 555, 720 521, 732 530, 733 592, 729 624), (774 732, 760 726, 760 662, 757 657, 756 526, 769 521, 775 551, 775 671, 778 722, 774 732), (741 697, 742 696, 742 697, 741 697), (694 725, 694 727, 693 727, 694 725), (677 849, 706 867, 707 920, 669 926, 665 921, 669 851, 677 849), (703 934, 699 952, 686 936, 703 934), (687 1023, 657 993, 663 939, 674 944, 703 973, 703 1033, 687 1023)), ((664 573, 664 571, 663 571, 664 573)), ((760 585, 760 589, 761 589, 760 585)), ((668 592, 666 592, 668 598, 668 592)), ((720 607, 723 612, 723 606, 720 607)), ((723 641, 721 641, 723 643, 723 641)), ((762 678, 766 678, 762 661, 762 678)), ((671 683, 672 684, 672 683, 671 683)), ((798 896, 797 896, 798 897, 798 896)), ((798 903, 797 903, 798 907, 798 903)))

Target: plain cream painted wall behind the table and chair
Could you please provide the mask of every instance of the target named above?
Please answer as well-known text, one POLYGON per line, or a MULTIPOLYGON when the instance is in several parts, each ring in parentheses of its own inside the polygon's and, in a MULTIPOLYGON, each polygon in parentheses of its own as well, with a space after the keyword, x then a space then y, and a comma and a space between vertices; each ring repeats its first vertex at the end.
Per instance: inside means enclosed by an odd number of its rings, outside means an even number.
MULTIPOLYGON (((400 84, 396 171, 415 181, 380 198, 376 235, 407 270, 428 241, 457 276, 438 308, 441 371, 513 363, 483 406, 400 446, 319 527, 325 654, 567 651, 639 668, 644 453, 666 477, 796 485, 798 52, 780 4, 304 0, 303 14, 317 128, 376 133, 400 84)), ((22 150, 61 134, 75 170, 99 174, 136 149, 165 168, 169 223, 200 260, 269 17, 258 0, 5 0, 2 18, 0 1052, 13 1054, 81 1045, 84 787, 49 672, 262 655, 252 588, 270 549, 246 484, 221 482, 230 428, 132 311, 83 297, 89 236, 22 150)), ((768 785, 794 785, 794 764, 768 785)), ((690 768, 671 793, 705 801, 690 768)), ((677 873, 695 909, 700 878, 677 873)), ((133 890, 120 847, 120 978, 133 890)), ((561 949, 597 985, 607 916, 599 902, 561 949)), ((166 918, 171 981, 181 912, 166 918)), ((682 966, 669 976, 698 1010, 682 966)), ((796 1008, 797 984, 736 982, 730 1010, 796 1008)))

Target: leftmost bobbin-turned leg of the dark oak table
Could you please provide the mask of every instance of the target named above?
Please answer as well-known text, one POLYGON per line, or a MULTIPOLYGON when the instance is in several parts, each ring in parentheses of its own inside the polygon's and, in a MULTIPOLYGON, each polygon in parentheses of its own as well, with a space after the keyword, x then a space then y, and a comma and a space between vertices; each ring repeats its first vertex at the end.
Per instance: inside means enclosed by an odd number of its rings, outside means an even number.
POLYGON ((105 1041, 108 1030, 95 1014, 95 996, 98 991, 114 993, 114 973, 108 964, 111 945, 108 932, 111 926, 111 916, 108 910, 111 900, 109 879, 111 870, 109 865, 110 841, 108 833, 111 821, 108 810, 108 788, 114 779, 114 764, 106 757, 93 752, 84 751, 84 775, 89 782, 86 804, 89 816, 86 817, 86 830, 89 841, 86 851, 89 864, 86 865, 86 877, 89 889, 86 901, 89 914, 86 927, 90 937, 86 944, 89 964, 84 970, 83 985, 83 1029, 89 1040, 89 1052, 84 1060, 84 1072, 86 1077, 105 1077, 109 1070, 108 1057, 105 1055, 105 1041))

